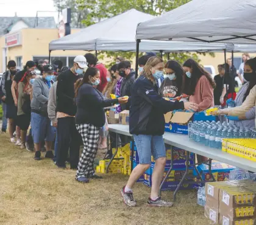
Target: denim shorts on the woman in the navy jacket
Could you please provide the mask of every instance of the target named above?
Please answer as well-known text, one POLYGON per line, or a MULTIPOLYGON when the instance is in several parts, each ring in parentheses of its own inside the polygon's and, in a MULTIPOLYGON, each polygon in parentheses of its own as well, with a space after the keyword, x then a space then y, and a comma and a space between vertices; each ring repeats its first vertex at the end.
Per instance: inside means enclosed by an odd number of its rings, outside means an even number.
POLYGON ((140 164, 151 164, 151 155, 154 160, 166 157, 165 142, 163 136, 133 135, 138 151, 140 164))

